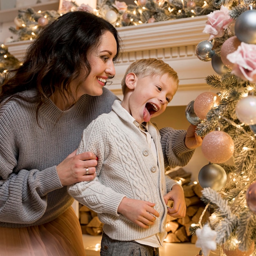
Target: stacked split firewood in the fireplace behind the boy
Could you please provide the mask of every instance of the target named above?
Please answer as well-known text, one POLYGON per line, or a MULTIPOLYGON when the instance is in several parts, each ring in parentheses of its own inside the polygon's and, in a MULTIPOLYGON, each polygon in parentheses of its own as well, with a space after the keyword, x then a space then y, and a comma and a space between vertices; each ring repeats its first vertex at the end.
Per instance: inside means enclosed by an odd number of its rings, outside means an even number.
MULTIPOLYGON (((191 173, 179 168, 176 171, 167 171, 172 179, 177 180, 182 184, 186 201, 186 216, 181 219, 167 216, 166 231, 168 232, 166 243, 182 243, 182 242, 196 242, 196 236, 192 236, 189 231, 191 224, 197 224, 199 218, 204 210, 204 203, 200 200, 202 187, 196 183, 191 183, 191 173)), ((172 207, 172 202, 168 203, 172 207)), ((79 220, 83 234, 90 234, 97 236, 102 234, 103 224, 100 222, 97 213, 90 210, 88 207, 79 204, 79 220)), ((204 214, 202 222, 206 222, 207 214, 204 214)))

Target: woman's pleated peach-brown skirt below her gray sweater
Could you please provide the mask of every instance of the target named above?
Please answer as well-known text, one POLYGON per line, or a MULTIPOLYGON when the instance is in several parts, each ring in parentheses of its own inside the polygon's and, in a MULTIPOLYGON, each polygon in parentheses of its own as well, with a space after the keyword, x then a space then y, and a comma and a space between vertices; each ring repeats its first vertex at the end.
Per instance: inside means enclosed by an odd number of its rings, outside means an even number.
POLYGON ((85 256, 79 220, 70 207, 39 226, 0 227, 0 256, 85 256))

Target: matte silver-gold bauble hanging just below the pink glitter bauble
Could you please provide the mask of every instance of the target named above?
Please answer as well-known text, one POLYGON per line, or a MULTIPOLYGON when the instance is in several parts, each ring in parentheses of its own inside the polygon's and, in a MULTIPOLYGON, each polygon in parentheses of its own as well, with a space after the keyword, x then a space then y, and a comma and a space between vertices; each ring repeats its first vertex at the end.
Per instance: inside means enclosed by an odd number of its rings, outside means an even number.
POLYGON ((207 164, 199 171, 198 181, 202 188, 219 191, 227 182, 227 174, 220 165, 207 164))

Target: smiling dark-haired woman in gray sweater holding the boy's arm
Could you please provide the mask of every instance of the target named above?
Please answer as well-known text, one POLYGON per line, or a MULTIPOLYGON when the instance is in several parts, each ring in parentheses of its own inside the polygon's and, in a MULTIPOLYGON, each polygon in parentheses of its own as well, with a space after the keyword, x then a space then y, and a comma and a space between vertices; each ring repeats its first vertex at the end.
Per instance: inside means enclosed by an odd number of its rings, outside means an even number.
POLYGON ((0 88, 0 255, 83 256, 66 186, 95 177, 97 157, 76 155, 82 132, 115 95, 119 36, 84 11, 40 32, 0 88))

